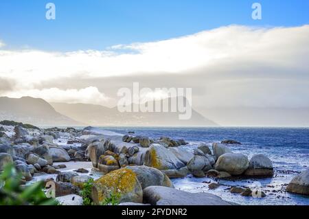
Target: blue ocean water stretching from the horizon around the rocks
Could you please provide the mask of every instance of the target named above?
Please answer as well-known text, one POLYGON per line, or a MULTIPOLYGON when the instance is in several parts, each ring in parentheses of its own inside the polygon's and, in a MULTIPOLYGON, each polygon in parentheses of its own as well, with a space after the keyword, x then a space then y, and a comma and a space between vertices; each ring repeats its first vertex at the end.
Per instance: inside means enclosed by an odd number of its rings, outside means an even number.
POLYGON ((231 150, 246 154, 249 159, 253 154, 265 154, 273 161, 273 178, 214 181, 207 177, 188 176, 173 179, 175 187, 187 192, 209 192, 241 205, 309 205, 308 196, 285 192, 285 187, 293 176, 309 168, 309 128, 102 128, 122 134, 134 131, 135 135, 154 139, 162 136, 185 139, 189 144, 182 147, 191 151, 200 143, 211 146, 213 142, 224 139, 240 141, 242 144, 230 146, 231 150), (221 186, 211 190, 208 188, 211 182, 220 183, 221 186), (253 198, 231 194, 231 186, 260 189, 266 193, 266 197, 253 198))

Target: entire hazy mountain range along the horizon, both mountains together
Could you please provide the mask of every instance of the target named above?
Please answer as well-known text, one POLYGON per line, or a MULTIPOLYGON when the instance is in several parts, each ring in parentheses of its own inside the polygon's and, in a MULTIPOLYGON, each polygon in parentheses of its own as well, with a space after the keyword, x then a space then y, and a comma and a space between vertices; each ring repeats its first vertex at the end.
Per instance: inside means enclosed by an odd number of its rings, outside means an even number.
POLYGON ((193 109, 191 119, 179 120, 179 113, 119 113, 117 108, 33 97, 0 97, 0 120, 37 126, 218 126, 193 109))

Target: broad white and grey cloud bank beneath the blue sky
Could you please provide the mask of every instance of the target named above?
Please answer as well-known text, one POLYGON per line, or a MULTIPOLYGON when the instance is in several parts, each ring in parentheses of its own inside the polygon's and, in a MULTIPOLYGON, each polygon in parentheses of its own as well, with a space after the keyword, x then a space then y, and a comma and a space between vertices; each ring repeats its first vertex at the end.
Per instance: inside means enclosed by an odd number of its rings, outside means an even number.
POLYGON ((152 89, 190 87, 201 107, 309 106, 308 45, 309 25, 231 25, 106 51, 0 49, 0 77, 15 81, 14 95, 32 91, 57 102, 98 103, 100 91, 115 97, 120 87, 140 82, 152 89), (54 87, 60 95, 51 95, 54 87), (85 87, 97 91, 80 95, 85 87))

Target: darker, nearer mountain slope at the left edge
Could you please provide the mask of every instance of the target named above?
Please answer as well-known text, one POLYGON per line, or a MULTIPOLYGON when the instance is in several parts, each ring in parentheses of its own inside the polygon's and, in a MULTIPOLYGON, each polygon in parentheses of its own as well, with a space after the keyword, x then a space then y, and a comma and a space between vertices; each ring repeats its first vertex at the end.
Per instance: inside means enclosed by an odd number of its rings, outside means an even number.
POLYGON ((1 120, 13 120, 36 126, 82 125, 82 123, 56 112, 45 100, 32 97, 0 97, 1 120))

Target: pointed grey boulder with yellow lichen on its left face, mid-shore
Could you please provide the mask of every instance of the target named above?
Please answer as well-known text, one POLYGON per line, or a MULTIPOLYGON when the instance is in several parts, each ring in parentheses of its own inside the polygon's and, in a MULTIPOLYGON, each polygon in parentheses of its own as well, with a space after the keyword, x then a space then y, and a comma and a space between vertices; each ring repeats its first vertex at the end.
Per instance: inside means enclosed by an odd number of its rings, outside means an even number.
POLYGON ((158 170, 177 170, 185 166, 168 148, 157 143, 146 151, 144 165, 158 170))

